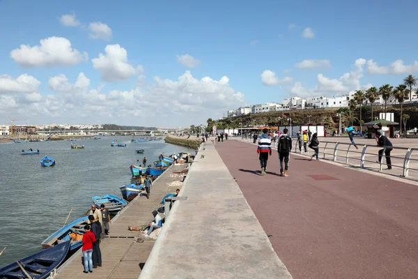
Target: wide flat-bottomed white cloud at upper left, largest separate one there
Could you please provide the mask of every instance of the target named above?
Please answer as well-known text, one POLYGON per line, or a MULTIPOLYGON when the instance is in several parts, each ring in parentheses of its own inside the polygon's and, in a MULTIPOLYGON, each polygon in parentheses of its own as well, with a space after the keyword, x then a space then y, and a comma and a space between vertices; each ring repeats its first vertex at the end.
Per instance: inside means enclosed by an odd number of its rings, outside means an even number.
POLYGON ((88 54, 73 50, 66 38, 49 37, 40 40, 40 45, 20 45, 12 50, 10 57, 24 68, 72 66, 81 61, 87 61, 88 54))

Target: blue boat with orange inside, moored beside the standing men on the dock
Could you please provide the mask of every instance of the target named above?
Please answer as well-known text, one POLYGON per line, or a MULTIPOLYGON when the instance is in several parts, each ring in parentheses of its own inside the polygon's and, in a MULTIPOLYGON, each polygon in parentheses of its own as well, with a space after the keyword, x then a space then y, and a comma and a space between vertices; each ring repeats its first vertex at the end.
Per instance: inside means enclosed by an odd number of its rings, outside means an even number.
MULTIPOLYGON (((86 232, 84 226, 88 224, 88 216, 84 216, 72 221, 68 225, 64 225, 61 229, 54 232, 47 237, 40 246, 47 249, 56 246, 62 241, 70 241, 70 251, 73 251, 82 246, 83 234, 86 232)), ((49 249, 48 249, 49 250, 49 249)))

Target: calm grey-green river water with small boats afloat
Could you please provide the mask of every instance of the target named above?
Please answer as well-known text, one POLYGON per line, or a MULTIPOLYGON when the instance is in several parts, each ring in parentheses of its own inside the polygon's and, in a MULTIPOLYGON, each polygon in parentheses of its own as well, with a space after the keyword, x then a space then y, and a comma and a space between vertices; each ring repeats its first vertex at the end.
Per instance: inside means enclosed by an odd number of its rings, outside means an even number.
MULTIPOLYGON (((0 144, 0 267, 41 250, 40 242, 68 222, 80 218, 91 206, 91 197, 121 196, 119 187, 130 183, 130 165, 144 156, 147 165, 161 152, 187 151, 164 141, 131 144, 132 136, 77 140, 84 149, 70 149, 71 142, 0 144), (127 147, 111 147, 114 140, 127 147), (24 149, 39 149, 39 155, 20 155, 24 149), (135 153, 145 149, 145 153, 135 153), (42 167, 48 155, 54 167, 42 167)), ((189 150, 190 151, 190 150, 189 150)))

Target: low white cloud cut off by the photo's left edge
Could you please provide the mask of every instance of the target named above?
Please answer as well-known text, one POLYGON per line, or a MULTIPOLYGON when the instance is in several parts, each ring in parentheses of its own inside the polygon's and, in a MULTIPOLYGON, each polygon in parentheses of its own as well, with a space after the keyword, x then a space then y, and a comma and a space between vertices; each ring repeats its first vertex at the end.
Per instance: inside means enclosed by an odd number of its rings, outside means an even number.
POLYGON ((40 81, 31 75, 20 75, 17 79, 10 75, 0 75, 0 93, 31 93, 38 90, 40 81))

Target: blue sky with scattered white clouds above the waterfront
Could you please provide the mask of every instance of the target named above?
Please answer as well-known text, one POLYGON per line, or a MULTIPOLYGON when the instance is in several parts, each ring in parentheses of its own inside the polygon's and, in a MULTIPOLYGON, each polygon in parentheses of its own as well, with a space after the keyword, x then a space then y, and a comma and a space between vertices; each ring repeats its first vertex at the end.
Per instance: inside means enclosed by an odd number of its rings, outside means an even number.
POLYGON ((189 126, 418 75, 417 1, 0 0, 0 124, 189 126))

